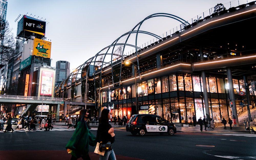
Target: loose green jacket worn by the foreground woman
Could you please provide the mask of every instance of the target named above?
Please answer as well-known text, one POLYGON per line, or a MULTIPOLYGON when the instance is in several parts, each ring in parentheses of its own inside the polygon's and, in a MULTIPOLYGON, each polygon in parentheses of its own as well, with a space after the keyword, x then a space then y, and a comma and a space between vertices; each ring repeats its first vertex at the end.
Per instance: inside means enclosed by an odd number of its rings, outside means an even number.
POLYGON ((89 145, 95 146, 96 144, 96 137, 90 132, 88 126, 83 126, 79 121, 74 134, 66 145, 66 149, 71 149, 71 154, 80 158, 82 155, 89 154, 89 145))

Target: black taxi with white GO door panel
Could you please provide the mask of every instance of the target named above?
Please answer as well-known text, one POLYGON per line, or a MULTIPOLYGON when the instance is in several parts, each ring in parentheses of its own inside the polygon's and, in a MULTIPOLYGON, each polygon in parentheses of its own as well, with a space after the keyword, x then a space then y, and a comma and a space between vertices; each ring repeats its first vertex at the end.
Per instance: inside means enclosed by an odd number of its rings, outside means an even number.
POLYGON ((145 135, 147 133, 167 133, 174 135, 176 133, 175 124, 154 114, 134 114, 127 122, 126 131, 132 135, 145 135))

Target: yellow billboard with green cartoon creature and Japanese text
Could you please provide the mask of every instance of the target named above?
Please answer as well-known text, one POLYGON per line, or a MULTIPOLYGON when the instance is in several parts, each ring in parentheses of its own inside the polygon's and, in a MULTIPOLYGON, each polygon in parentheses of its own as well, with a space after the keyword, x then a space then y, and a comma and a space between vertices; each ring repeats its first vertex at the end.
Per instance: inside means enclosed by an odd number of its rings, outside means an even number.
POLYGON ((51 42, 35 38, 32 55, 51 58, 51 42))

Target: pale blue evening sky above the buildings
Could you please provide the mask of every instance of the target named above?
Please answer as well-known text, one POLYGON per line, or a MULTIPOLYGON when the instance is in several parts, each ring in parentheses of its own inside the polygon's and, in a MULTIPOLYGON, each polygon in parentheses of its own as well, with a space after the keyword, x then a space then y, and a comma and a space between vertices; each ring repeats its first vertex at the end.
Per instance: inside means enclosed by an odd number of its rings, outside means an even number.
MULTIPOLYGON (((19 14, 45 19, 47 22, 45 37, 52 42, 51 66, 56 67, 57 61, 64 60, 70 62, 72 70, 101 49, 111 45, 118 37, 130 31, 151 14, 168 13, 190 20, 218 3, 226 4, 230 0, 7 0, 7 2, 6 20, 13 29, 14 37, 17 33, 15 19, 19 14)), ((162 21, 153 19, 150 23, 146 23, 143 29, 156 31, 160 35, 180 24, 173 20, 168 25, 164 24, 165 27, 162 28, 160 27, 162 21)), ((145 42, 149 40, 151 39, 145 39, 145 42)))

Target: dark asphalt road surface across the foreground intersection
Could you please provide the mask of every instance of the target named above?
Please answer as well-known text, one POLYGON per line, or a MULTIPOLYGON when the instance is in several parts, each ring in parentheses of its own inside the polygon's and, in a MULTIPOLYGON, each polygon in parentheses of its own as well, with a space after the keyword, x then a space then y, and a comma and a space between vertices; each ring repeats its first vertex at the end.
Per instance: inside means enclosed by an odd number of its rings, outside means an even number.
MULTIPOLYGON (((15 127, 16 125, 13 125, 13 128, 15 127)), ((117 159, 125 159, 122 156, 145 160, 256 158, 255 145, 252 144, 255 142, 256 134, 222 128, 208 129, 205 132, 198 132, 198 127, 177 127, 177 130, 174 136, 167 134, 133 136, 130 132, 126 132, 124 127, 115 127, 114 152, 117 159)), ((50 132, 40 130, 0 132, 0 160, 29 158, 31 153, 38 155, 39 160, 47 156, 63 157, 61 159, 68 160, 71 155, 66 153, 65 146, 73 132, 74 129, 67 129, 63 125, 55 125, 50 132)), ((97 127, 92 127, 91 132, 96 135, 97 127)), ((94 148, 90 147, 92 160, 99 159, 99 156, 93 153, 94 148)))

